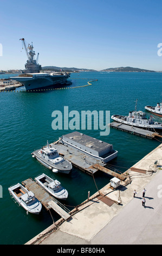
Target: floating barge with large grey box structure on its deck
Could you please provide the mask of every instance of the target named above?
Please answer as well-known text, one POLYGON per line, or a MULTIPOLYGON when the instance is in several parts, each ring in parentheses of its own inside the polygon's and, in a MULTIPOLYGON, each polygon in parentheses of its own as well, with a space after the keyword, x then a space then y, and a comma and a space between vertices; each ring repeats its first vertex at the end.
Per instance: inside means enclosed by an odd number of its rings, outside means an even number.
MULTIPOLYGON (((99 170, 94 167, 94 164, 105 166, 118 155, 118 151, 113 149, 112 144, 77 131, 63 135, 50 145, 56 148, 58 153, 74 167, 91 175, 99 170)), ((37 151, 32 154, 35 156, 37 151)))

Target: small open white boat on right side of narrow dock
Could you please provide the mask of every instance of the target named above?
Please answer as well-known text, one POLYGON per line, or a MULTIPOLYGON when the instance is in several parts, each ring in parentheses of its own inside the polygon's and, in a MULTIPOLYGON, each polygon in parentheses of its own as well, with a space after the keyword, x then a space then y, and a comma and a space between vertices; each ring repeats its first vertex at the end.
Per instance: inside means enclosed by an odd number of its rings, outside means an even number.
POLYGON ((38 175, 35 178, 35 181, 53 197, 58 199, 67 199, 68 191, 61 186, 61 183, 58 180, 53 180, 43 173, 41 175, 38 175))

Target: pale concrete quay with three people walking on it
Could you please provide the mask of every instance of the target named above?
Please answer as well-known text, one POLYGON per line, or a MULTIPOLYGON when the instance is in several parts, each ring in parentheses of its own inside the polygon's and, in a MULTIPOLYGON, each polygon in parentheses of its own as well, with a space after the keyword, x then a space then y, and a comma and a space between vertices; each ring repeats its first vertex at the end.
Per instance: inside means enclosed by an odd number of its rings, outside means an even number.
POLYGON ((68 221, 59 220, 25 244, 162 244, 162 144, 125 173, 129 179, 121 181, 120 190, 119 187, 112 190, 107 184, 100 194, 96 192, 79 206, 68 221), (128 180, 130 182, 126 182, 128 180), (142 206, 144 188, 145 208, 142 206), (135 197, 134 190, 137 191, 135 197))

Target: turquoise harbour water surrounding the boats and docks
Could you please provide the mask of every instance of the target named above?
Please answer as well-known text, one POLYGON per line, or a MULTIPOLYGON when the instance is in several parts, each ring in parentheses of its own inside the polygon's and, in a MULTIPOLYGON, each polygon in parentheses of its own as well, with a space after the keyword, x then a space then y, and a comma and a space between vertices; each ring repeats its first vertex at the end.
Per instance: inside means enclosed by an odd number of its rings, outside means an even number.
MULTIPOLYGON (((142 111, 145 110, 146 105, 154 106, 161 101, 162 73, 81 72, 72 74, 71 78, 73 84, 70 87, 83 86, 90 80, 98 79, 98 81, 92 82, 92 86, 75 89, 31 93, 18 88, 18 92, 0 93, 0 185, 3 188, 3 197, 0 198, 1 245, 23 244, 53 223, 49 212, 44 209, 38 216, 27 215, 25 210, 11 199, 9 186, 30 177, 34 179, 44 172, 60 180, 67 188, 69 198, 66 205, 70 210, 73 209, 72 206, 87 199, 88 191, 91 195, 97 191, 92 176, 75 168, 69 175, 54 174, 31 157, 31 153, 46 145, 47 140, 51 143, 62 134, 72 132, 52 129, 53 111, 59 110, 63 113, 64 106, 68 106, 69 112, 108 110, 111 115, 125 115, 134 109, 136 99, 138 99, 137 108, 142 111)), ((162 118, 155 118, 162 122, 162 118)), ((113 144, 114 149, 119 153, 111 164, 121 172, 131 167, 160 143, 116 129, 111 129, 108 136, 100 136, 99 130, 82 132, 113 144)), ((99 189, 110 179, 106 174, 95 175, 99 189)), ((52 215, 55 221, 60 218, 55 212, 52 212, 52 215)))

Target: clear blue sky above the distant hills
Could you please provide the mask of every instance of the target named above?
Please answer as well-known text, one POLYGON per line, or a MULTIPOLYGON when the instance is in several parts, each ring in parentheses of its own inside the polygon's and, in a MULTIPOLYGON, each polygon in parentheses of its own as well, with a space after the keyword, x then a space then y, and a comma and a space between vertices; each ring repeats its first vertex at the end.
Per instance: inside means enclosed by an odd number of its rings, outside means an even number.
POLYGON ((24 69, 20 38, 39 64, 162 70, 161 0, 0 0, 0 70, 24 69))

